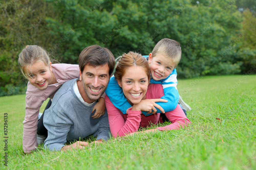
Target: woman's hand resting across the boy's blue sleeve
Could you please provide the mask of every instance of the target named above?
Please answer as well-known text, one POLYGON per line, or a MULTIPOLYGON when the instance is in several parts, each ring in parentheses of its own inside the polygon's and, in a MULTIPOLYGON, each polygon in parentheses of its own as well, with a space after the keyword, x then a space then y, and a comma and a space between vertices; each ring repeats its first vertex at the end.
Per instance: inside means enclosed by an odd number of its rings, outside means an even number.
POLYGON ((156 104, 155 102, 167 102, 165 99, 145 99, 141 100, 140 103, 134 104, 132 106, 132 110, 140 110, 145 111, 147 114, 150 114, 153 110, 153 114, 156 113, 156 108, 159 109, 162 113, 164 113, 164 109, 156 104), (155 108, 156 107, 156 108, 155 108))

